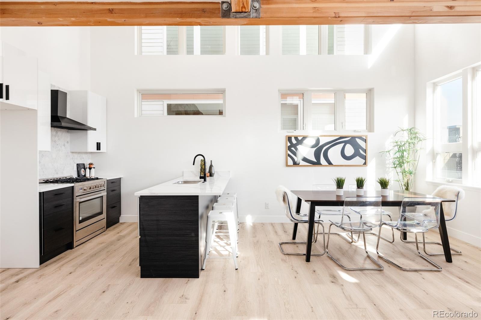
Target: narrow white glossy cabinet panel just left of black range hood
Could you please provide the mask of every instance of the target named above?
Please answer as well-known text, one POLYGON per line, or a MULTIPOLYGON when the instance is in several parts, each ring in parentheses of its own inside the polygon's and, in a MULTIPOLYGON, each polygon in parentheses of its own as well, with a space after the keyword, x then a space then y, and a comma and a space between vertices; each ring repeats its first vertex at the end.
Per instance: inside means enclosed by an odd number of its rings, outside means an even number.
POLYGON ((50 76, 38 70, 38 150, 50 151, 50 76))

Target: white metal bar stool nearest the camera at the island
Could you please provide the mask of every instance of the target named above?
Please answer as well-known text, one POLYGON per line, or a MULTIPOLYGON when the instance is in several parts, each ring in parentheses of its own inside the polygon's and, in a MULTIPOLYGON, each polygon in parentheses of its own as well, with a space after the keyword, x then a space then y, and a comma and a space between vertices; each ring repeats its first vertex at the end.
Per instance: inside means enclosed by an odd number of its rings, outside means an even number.
POLYGON ((205 270, 205 262, 209 258, 209 252, 214 241, 214 235, 216 230, 212 230, 213 222, 225 221, 228 225, 230 247, 232 249, 232 259, 234 260, 234 267, 239 269, 237 265, 237 243, 236 243, 236 224, 234 219, 234 212, 228 210, 211 210, 207 215, 207 230, 205 239, 205 253, 204 261, 202 263, 202 270, 205 270))

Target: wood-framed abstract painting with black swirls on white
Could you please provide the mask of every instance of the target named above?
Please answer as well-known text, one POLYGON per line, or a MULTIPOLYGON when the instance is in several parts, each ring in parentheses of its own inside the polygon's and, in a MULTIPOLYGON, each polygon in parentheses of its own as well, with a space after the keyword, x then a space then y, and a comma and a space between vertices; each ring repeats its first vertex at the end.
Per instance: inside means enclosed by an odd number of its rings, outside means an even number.
POLYGON ((367 135, 287 135, 287 166, 365 166, 367 135))

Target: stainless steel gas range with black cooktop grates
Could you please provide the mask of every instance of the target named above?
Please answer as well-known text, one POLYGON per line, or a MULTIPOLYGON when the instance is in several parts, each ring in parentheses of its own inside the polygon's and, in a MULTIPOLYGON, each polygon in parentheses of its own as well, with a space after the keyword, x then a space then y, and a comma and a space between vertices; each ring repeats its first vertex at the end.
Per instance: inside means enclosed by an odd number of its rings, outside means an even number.
POLYGON ((105 179, 67 176, 40 179, 39 182, 74 184, 74 247, 105 231, 105 179))

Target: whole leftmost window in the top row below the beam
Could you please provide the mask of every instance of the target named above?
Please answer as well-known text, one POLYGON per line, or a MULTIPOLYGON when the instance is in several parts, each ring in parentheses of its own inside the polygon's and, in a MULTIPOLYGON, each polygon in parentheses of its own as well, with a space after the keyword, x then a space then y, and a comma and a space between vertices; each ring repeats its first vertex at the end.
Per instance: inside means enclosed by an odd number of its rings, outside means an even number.
POLYGON ((224 26, 140 26, 142 55, 224 54, 224 26))

